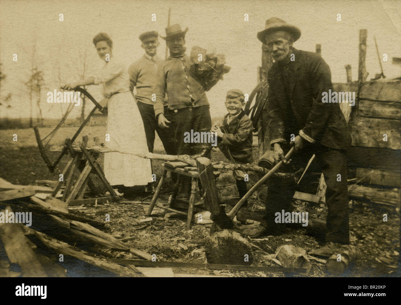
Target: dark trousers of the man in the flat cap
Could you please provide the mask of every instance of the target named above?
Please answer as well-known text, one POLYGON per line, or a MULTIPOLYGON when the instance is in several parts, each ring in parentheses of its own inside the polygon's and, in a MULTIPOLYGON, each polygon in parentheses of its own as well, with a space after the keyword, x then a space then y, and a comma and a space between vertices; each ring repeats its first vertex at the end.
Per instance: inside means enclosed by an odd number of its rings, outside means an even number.
MULTIPOLYGON (((155 131, 157 132, 160 140, 162 140, 164 150, 168 155, 176 155, 174 147, 174 133, 168 128, 161 128, 158 125, 156 117, 154 115, 153 105, 137 102, 139 112, 144 122, 146 142, 148 144, 149 152, 153 152, 155 131)), ((167 106, 164 107, 164 111, 167 111, 167 106)))

